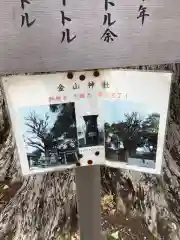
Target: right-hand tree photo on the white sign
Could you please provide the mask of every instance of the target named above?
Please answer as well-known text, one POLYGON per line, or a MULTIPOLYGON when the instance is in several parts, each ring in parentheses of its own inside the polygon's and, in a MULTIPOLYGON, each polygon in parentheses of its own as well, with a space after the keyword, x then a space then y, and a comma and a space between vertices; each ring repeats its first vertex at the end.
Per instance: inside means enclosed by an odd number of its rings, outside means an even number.
POLYGON ((105 101, 105 156, 155 168, 160 114, 130 101, 105 101))

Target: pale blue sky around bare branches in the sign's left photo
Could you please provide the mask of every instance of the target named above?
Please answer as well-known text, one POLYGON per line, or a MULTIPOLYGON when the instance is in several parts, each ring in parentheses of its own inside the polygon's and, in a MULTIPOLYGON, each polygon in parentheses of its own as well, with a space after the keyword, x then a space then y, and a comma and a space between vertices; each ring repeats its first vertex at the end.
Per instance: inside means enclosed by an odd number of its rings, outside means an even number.
MULTIPOLYGON (((31 112, 35 112, 40 119, 44 119, 45 114, 48 114, 48 116, 49 116, 48 128, 49 129, 51 127, 53 127, 54 122, 56 121, 56 118, 57 118, 57 115, 58 115, 58 112, 53 113, 52 111, 50 111, 49 105, 21 108, 19 110, 19 113, 20 113, 20 116, 21 116, 23 136, 25 137, 25 139, 32 137, 32 134, 28 133, 29 127, 27 127, 25 125, 25 118, 27 118, 30 115, 31 112)), ((37 139, 33 138, 33 141, 37 141, 37 139)), ((26 144, 26 151, 27 152, 31 153, 34 150, 35 149, 33 147, 27 146, 27 144, 26 144)))

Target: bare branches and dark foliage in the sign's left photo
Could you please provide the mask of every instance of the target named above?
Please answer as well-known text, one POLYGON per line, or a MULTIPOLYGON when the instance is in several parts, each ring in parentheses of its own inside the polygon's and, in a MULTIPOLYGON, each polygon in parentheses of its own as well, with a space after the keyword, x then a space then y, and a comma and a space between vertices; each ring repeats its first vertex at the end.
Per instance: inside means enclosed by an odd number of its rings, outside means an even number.
POLYGON ((44 118, 39 117, 36 111, 30 112, 25 118, 25 125, 28 127, 28 137, 26 142, 35 149, 37 153, 45 153, 56 148, 58 144, 63 144, 65 139, 73 139, 76 143, 76 118, 73 103, 53 104, 49 106, 49 111, 57 112, 57 118, 53 126, 49 126, 50 114, 45 114, 44 118))

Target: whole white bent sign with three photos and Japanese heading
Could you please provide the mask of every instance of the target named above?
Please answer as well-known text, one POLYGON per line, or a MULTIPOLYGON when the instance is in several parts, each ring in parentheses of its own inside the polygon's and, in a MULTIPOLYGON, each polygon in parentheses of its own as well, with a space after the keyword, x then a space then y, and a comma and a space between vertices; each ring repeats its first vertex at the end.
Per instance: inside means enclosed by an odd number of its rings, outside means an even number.
POLYGON ((161 171, 171 73, 2 79, 23 174, 92 164, 161 171))

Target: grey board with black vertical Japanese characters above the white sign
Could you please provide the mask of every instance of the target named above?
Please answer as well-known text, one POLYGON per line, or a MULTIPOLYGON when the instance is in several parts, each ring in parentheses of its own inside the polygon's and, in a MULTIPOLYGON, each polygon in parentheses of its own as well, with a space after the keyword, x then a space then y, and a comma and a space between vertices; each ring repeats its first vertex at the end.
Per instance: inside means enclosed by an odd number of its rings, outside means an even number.
POLYGON ((180 1, 2 0, 0 73, 180 61, 180 1))

